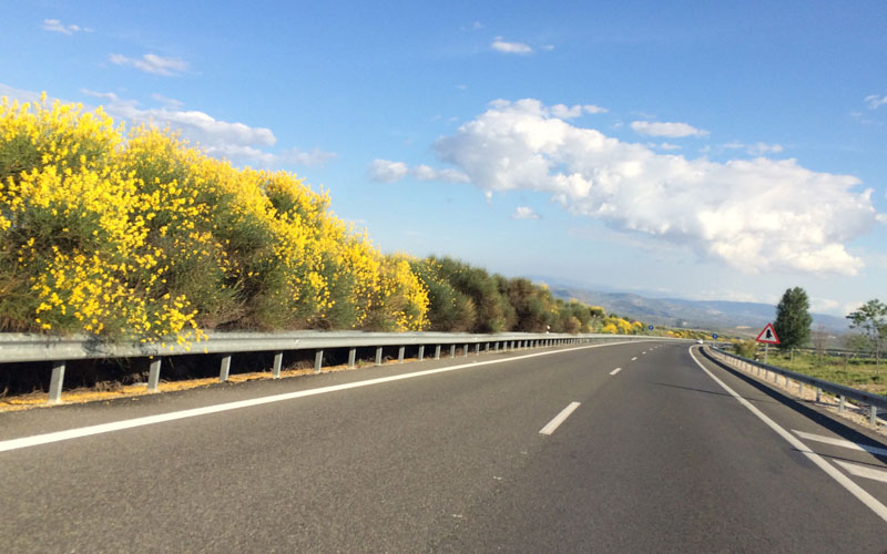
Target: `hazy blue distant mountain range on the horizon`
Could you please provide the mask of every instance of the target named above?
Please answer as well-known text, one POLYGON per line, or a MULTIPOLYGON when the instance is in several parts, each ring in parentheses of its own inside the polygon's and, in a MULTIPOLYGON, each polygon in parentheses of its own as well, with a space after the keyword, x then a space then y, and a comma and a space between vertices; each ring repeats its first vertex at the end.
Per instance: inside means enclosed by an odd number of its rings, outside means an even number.
MULTIPOLYGON (((765 325, 776 318, 776 306, 757 302, 724 300, 683 300, 677 298, 646 298, 631 293, 589 290, 577 286, 552 285, 544 278, 557 298, 575 298, 582 302, 601 306, 608 314, 629 316, 646 324, 665 327, 706 329, 724 335, 757 336, 765 325)), ((810 314, 813 329, 830 334, 849 330, 847 320, 825 314, 810 314)))

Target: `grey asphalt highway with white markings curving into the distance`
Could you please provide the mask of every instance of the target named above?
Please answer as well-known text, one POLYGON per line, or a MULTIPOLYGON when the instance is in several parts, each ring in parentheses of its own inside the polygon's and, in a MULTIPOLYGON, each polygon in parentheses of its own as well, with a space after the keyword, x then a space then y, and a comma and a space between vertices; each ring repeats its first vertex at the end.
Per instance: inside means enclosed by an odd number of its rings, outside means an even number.
POLYGON ((685 342, 4 413, 0 499, 10 553, 887 552, 887 445, 685 342))

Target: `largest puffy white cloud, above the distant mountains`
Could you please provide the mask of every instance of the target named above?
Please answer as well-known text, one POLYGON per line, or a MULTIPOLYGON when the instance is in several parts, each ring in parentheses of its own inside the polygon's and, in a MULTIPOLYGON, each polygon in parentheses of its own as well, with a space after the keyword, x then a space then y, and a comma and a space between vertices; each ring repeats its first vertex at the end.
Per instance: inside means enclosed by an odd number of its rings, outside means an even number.
POLYGON ((497 101, 435 143, 485 193, 537 191, 612 228, 690 246, 748 273, 855 275, 845 244, 876 220, 859 181, 795 160, 712 162, 657 154, 552 116, 532 99, 497 101))

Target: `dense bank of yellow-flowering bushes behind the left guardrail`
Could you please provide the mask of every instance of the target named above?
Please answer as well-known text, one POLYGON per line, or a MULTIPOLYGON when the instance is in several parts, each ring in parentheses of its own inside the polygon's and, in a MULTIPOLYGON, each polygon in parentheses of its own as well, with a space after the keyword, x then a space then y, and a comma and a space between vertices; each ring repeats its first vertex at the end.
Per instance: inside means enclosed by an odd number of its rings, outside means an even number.
POLYGON ((190 343, 233 329, 648 332, 527 279, 384 255, 290 173, 101 109, 3 99, 0 331, 190 343))

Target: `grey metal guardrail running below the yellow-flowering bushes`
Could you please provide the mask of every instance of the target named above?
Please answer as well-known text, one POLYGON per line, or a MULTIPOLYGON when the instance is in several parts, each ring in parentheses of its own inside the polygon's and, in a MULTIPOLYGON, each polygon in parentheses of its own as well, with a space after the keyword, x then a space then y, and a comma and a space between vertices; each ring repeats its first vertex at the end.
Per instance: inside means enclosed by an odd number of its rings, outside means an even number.
POLYGON ((218 380, 226 381, 231 370, 231 357, 239 352, 275 352, 272 377, 281 377, 283 352, 293 350, 315 350, 314 370, 323 367, 325 349, 348 348, 348 367, 356 365, 358 348, 376 347, 376 365, 381 366, 383 349, 398 347, 398 361, 404 360, 407 346, 418 347, 418 360, 425 358, 426 346, 435 348, 434 358, 440 359, 441 348, 449 347, 450 357, 456 357, 457 346, 468 356, 469 347, 479 355, 481 345, 486 352, 574 345, 590 342, 613 342, 624 340, 682 340, 644 335, 567 335, 504 332, 497 335, 458 332, 361 332, 361 331, 292 331, 292 332, 207 332, 206 338, 193 343, 179 343, 173 339, 167 343, 156 342, 102 342, 95 337, 48 337, 29 334, 0 334, 0 363, 52 362, 49 402, 61 400, 65 362, 83 359, 152 358, 147 390, 156 391, 163 357, 185 355, 223 355, 218 380))

